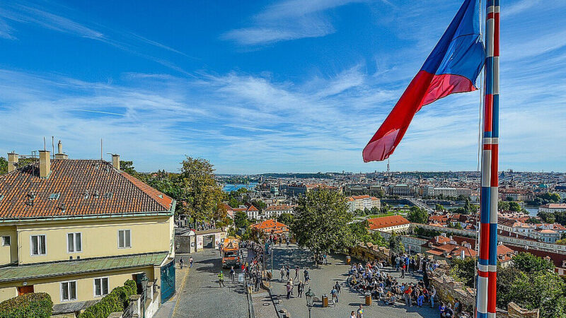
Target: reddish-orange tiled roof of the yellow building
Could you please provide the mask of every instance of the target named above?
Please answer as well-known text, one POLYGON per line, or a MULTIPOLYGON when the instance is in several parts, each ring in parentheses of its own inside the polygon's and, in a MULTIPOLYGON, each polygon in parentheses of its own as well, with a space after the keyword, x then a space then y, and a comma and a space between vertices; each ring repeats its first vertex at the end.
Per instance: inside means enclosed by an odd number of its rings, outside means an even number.
POLYGON ((173 199, 103 160, 51 160, 0 176, 0 218, 47 218, 171 211, 173 199), (32 200, 33 198, 33 200, 32 200))

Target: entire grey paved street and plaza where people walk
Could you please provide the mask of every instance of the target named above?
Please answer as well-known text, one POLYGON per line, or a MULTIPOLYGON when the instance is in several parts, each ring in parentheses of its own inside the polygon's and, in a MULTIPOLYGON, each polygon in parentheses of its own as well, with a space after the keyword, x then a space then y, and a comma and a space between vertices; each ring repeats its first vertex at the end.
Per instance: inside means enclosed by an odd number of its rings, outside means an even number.
MULTIPOLYGON (((246 257, 246 253, 245 257, 246 257)), ((251 257, 252 255, 250 255, 251 257)), ((178 293, 175 298, 166 302, 157 312, 157 318, 177 318, 177 317, 248 317, 248 300, 246 291, 236 283, 229 283, 229 271, 224 270, 226 277, 226 287, 220 288, 218 285, 217 275, 220 269, 219 252, 205 250, 192 254, 195 263, 192 269, 188 271, 185 283, 178 279, 178 293)), ((185 264, 188 263, 188 256, 183 257, 185 264)), ((306 307, 306 299, 296 297, 296 287, 294 288, 295 296, 291 296, 290 300, 285 299, 286 291, 284 282, 280 281, 279 269, 282 265, 291 267, 291 278, 294 278, 295 266, 300 266, 300 279, 303 280, 303 270, 308 268, 311 276, 310 287, 316 297, 320 298, 322 294, 330 295, 331 286, 336 281, 342 285, 340 293, 340 302, 337 305, 323 308, 321 303, 317 302, 312 308, 311 317, 348 317, 352 310, 356 310, 357 306, 364 304, 364 297, 357 291, 350 290, 346 285, 347 270, 350 266, 345 264, 345 257, 342 255, 329 256, 330 264, 316 268, 313 266, 311 254, 291 247, 276 247, 273 257, 274 264, 274 280, 272 281, 272 293, 279 295, 282 299, 282 307, 287 309, 291 317, 308 317, 306 307)), ((270 257, 267 257, 267 269, 270 269, 270 257)), ((186 269, 178 271, 178 274, 186 273, 186 269)), ((391 275, 399 277, 400 273, 386 269, 391 275)), ((420 279, 420 275, 407 274, 406 278, 398 278, 400 282, 416 282, 420 279)), ((286 279, 285 279, 286 281, 286 279)), ((308 290, 308 285, 306 286, 308 290)), ((306 290, 305 290, 306 291, 306 290)), ((395 306, 385 306, 383 303, 376 303, 372 300, 371 306, 364 305, 364 314, 366 317, 435 317, 438 310, 423 306, 421 308, 405 307, 398 302, 395 306)), ((257 293, 253 295, 255 317, 271 318, 277 317, 275 308, 267 296, 267 293, 257 293)))

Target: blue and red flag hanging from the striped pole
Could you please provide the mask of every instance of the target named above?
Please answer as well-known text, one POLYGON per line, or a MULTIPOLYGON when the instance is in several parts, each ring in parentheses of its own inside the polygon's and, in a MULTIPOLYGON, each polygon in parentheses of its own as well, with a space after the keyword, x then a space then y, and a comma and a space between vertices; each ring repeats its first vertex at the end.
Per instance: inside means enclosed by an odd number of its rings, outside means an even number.
POLYGON ((479 0, 466 0, 405 93, 364 148, 364 162, 385 160, 395 151, 412 117, 435 100, 477 90, 485 49, 479 0))

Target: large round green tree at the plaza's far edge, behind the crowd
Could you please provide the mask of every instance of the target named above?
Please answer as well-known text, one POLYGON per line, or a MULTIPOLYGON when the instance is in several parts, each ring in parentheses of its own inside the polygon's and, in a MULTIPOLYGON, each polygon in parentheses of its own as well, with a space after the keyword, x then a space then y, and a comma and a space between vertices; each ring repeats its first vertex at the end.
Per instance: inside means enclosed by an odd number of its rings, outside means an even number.
POLYGON ((352 246, 348 223, 352 220, 345 197, 329 189, 300 196, 294 211, 291 232, 299 247, 318 256, 330 250, 352 246))

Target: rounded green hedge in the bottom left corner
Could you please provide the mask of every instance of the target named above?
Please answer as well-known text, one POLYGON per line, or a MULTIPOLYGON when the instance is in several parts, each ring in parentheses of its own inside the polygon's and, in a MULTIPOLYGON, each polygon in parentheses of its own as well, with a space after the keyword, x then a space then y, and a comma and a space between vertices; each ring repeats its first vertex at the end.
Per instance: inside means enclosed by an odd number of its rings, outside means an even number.
POLYGON ((0 302, 1 318, 49 318, 53 302, 47 293, 28 293, 0 302))

